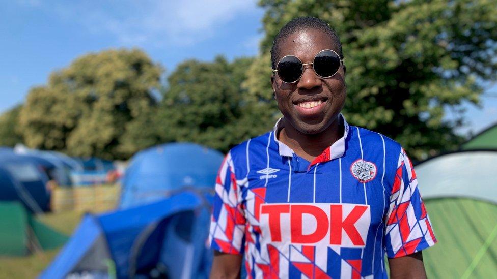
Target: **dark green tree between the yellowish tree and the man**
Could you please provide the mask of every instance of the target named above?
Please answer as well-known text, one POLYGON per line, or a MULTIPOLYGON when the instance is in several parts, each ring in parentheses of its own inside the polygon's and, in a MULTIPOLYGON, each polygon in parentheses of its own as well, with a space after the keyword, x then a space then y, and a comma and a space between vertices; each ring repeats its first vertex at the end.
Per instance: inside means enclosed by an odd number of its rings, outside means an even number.
POLYGON ((240 141, 264 133, 271 117, 241 84, 252 58, 229 63, 187 60, 169 76, 157 115, 162 141, 197 142, 227 151, 240 141), (261 119, 262 118, 262 119, 261 119))

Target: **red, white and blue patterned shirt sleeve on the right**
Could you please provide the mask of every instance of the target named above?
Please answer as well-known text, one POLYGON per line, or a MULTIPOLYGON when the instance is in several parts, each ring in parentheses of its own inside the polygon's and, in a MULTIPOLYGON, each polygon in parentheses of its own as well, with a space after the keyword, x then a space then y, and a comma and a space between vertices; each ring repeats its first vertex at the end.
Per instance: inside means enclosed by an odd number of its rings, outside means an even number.
POLYGON ((385 222, 383 243, 389 258, 416 253, 436 243, 416 172, 404 149, 400 151, 385 222))

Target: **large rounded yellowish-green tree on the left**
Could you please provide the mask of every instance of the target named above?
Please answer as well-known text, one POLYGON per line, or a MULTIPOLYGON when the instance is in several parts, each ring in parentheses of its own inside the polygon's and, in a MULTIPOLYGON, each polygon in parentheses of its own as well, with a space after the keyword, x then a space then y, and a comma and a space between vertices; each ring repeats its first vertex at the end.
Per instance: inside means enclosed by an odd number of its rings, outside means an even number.
POLYGON ((150 141, 133 143, 137 123, 157 101, 162 68, 141 50, 106 50, 81 56, 30 90, 20 112, 26 144, 74 156, 127 159, 150 141))

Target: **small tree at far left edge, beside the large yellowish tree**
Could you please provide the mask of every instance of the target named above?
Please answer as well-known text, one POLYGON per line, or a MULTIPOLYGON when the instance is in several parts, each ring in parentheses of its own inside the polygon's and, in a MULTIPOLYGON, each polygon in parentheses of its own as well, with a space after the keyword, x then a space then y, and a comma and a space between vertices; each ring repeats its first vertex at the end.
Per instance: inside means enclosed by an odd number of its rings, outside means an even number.
POLYGON ((19 111, 21 106, 16 106, 0 115, 0 146, 14 146, 22 143, 23 138, 19 132, 19 111))

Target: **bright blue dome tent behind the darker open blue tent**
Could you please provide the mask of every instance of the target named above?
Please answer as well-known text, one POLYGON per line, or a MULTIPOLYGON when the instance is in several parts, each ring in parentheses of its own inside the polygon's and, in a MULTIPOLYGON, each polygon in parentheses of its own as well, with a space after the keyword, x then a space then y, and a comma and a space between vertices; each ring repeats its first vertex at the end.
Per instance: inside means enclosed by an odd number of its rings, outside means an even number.
POLYGON ((121 208, 167 197, 184 187, 211 190, 223 154, 194 143, 157 145, 135 154, 122 180, 121 208))

